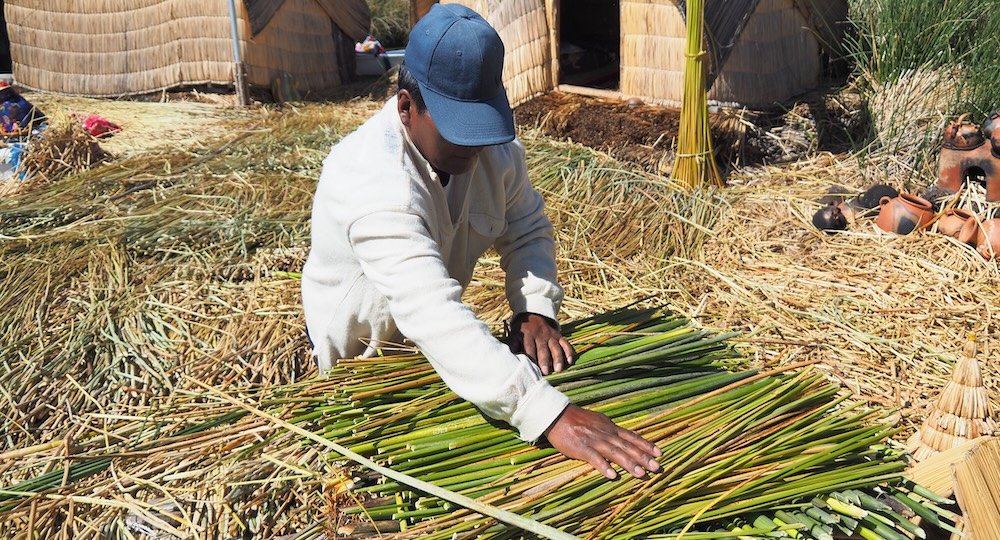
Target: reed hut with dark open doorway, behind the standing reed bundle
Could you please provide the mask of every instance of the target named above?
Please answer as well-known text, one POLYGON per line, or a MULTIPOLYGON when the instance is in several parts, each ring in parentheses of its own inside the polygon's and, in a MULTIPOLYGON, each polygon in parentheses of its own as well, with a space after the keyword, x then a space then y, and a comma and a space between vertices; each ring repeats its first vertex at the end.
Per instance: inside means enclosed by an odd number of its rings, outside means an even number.
MULTIPOLYGON (((500 33, 515 104, 554 88, 681 103, 683 0, 457 1, 500 33)), ((709 99, 766 107, 818 86, 847 0, 706 0, 705 13, 709 99)))

